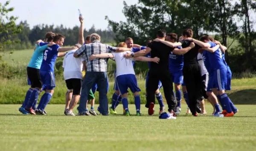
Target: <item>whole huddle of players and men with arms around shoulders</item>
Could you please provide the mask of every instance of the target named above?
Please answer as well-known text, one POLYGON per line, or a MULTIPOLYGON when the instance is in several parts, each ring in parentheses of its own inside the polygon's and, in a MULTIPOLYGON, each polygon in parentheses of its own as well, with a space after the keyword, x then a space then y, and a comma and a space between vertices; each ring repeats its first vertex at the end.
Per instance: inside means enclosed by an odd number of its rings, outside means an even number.
POLYGON ((130 116, 128 108, 128 88, 134 95, 136 116, 140 116, 141 91, 134 72, 134 62, 148 62, 146 76, 145 107, 148 115, 154 114, 155 98, 160 106, 159 118, 176 119, 181 112, 181 89, 187 104, 186 115, 198 113, 205 115, 204 99, 213 106, 215 117, 231 117, 238 112, 225 90, 231 89, 232 73, 225 61, 227 48, 210 36, 193 39, 193 31, 186 29, 177 39, 177 34, 166 34, 165 30, 157 31, 157 38, 149 40, 146 46, 133 43, 132 38, 120 42, 117 47, 100 42, 98 34, 91 34, 84 40, 83 20, 79 29, 78 44, 72 48, 61 48, 65 37, 48 32, 45 40, 38 40, 35 51, 27 66, 28 81, 31 88, 19 111, 23 114, 46 115, 45 108, 52 98, 55 88, 54 66, 57 57, 64 57, 64 79, 67 85, 64 114, 108 116, 117 114, 116 107, 122 102, 123 115, 130 116), (178 40, 178 42, 177 42, 178 40), (64 53, 66 52, 66 53, 64 53), (116 62, 114 73, 115 90, 111 106, 108 108, 108 59, 116 62), (175 84, 175 92, 173 91, 175 84), (168 112, 166 112, 160 89, 163 87, 168 112), (38 96, 45 91, 36 107, 38 96), (99 92, 98 113, 94 110, 94 93, 99 92), (222 110, 218 103, 221 104, 222 110), (90 111, 88 103, 91 101, 90 111))

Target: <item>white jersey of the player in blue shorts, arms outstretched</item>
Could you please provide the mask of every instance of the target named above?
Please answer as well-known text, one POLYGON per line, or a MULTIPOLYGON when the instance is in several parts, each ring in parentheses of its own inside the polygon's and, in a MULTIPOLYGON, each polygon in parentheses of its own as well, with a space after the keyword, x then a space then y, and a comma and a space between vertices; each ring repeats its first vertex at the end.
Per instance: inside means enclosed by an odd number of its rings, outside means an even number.
POLYGON ((122 53, 112 53, 114 56, 113 59, 116 61, 116 77, 120 75, 127 75, 127 74, 135 75, 133 64, 132 64, 134 60, 132 58, 126 59, 124 57, 126 53, 133 53, 133 52, 125 51, 122 53))

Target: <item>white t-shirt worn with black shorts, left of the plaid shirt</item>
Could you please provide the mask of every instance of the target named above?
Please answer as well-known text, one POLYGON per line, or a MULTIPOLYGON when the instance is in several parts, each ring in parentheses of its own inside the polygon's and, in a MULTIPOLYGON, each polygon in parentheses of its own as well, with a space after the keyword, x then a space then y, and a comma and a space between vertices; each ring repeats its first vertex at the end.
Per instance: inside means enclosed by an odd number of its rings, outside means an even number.
POLYGON ((82 79, 82 70, 83 70, 83 64, 82 61, 85 59, 83 57, 75 58, 73 54, 76 52, 76 50, 69 51, 65 56, 63 60, 64 67, 64 79, 70 79, 70 78, 79 78, 82 79))

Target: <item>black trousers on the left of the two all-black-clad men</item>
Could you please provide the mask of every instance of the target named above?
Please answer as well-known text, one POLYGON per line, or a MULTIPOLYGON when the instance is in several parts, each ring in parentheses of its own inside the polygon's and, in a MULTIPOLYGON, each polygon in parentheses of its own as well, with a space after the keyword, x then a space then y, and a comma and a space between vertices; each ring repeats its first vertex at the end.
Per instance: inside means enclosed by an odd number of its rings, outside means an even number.
POLYGON ((173 85, 172 78, 169 70, 150 70, 148 72, 148 86, 146 88, 147 91, 147 103, 145 107, 149 107, 151 102, 155 103, 155 91, 158 89, 159 80, 163 85, 163 92, 166 98, 166 102, 168 104, 168 111, 176 111, 176 101, 173 95, 173 85))

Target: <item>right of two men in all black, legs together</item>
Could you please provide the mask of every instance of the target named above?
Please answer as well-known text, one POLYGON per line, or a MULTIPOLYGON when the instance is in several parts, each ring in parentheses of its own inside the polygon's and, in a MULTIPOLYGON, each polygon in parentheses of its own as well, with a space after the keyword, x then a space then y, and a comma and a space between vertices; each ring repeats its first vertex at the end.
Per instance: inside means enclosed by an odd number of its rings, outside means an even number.
MULTIPOLYGON (((186 29, 182 33, 185 40, 181 40, 177 43, 166 42, 163 40, 155 39, 155 41, 160 41, 169 47, 175 48, 178 46, 182 46, 182 48, 188 48, 191 46, 192 42, 186 40, 186 38, 193 36, 192 29, 186 29)), ((187 92, 189 95, 189 108, 192 112, 192 115, 197 116, 197 112, 201 113, 200 110, 200 101, 201 101, 201 67, 198 64, 197 55, 200 46, 195 45, 194 48, 185 52, 177 52, 173 51, 175 54, 184 54, 184 67, 183 67, 183 80, 186 84, 187 92)))

